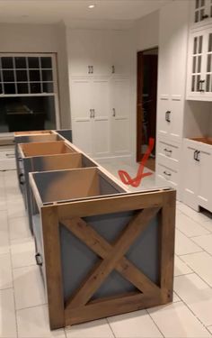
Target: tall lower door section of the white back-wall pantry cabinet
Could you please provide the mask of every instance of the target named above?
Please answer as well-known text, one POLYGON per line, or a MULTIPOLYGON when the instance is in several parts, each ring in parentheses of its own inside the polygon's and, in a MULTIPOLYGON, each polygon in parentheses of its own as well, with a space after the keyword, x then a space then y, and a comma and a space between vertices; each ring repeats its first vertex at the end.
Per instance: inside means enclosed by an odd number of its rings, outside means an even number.
POLYGON ((73 78, 73 142, 94 157, 129 153, 129 78, 73 78))

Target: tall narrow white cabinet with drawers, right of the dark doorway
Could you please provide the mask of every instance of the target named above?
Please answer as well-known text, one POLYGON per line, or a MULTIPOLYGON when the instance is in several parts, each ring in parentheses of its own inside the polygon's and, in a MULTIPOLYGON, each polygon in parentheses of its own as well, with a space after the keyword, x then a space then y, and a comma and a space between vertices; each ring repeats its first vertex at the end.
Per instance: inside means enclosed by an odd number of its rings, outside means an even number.
POLYGON ((178 198, 181 198, 188 18, 188 1, 174 1, 160 10, 156 184, 175 187, 178 198))

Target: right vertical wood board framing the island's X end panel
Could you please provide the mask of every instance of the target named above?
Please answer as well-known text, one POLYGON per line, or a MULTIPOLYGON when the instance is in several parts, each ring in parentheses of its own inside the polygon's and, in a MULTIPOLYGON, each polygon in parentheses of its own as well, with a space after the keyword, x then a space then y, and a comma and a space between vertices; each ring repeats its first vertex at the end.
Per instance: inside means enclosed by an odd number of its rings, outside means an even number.
POLYGON ((174 269, 174 237, 175 237, 176 191, 170 191, 164 196, 161 226, 160 284, 163 301, 172 301, 173 269, 174 269))

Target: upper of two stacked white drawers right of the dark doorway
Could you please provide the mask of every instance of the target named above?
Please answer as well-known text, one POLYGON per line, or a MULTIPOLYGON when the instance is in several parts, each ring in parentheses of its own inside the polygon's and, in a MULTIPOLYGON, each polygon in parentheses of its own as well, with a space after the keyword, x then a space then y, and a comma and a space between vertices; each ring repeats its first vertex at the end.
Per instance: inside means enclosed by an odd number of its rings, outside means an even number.
POLYGON ((180 147, 181 144, 166 142, 160 139, 157 146, 158 155, 179 162, 181 156, 180 147))

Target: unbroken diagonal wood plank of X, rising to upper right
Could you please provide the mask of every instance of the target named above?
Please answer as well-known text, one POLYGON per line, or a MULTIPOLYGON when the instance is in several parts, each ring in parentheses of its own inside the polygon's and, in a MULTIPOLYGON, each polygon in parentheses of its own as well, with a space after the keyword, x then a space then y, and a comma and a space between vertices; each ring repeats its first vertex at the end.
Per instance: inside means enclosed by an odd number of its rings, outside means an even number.
POLYGON ((84 306, 88 302, 94 292, 100 288, 103 280, 114 269, 120 258, 137 239, 137 236, 146 229, 146 225, 157 212, 158 208, 148 208, 133 217, 120 234, 118 241, 113 245, 107 257, 97 265, 91 275, 84 280, 82 287, 76 291, 69 303, 70 307, 84 306))

